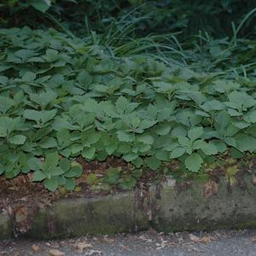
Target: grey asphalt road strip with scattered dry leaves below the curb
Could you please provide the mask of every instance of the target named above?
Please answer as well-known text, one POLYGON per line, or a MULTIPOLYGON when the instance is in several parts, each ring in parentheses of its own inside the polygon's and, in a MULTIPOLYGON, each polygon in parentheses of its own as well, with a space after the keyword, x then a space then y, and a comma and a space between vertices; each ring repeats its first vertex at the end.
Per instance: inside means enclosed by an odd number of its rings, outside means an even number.
POLYGON ((0 241, 0 256, 256 256, 256 230, 84 236, 60 241, 0 241))

